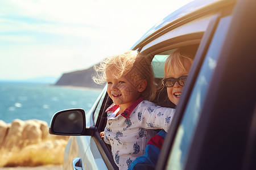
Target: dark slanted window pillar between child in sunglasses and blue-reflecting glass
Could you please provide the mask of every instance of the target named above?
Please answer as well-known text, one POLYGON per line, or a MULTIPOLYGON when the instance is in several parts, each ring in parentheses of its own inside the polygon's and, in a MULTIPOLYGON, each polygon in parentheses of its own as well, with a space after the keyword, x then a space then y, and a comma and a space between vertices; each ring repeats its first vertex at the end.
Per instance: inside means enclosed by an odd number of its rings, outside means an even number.
POLYGON ((177 128, 180 125, 181 118, 183 117, 184 109, 188 103, 188 99, 189 99, 189 96, 191 95, 193 85, 195 84, 196 77, 199 74, 201 65, 204 61, 205 54, 207 53, 207 49, 209 47, 210 41, 216 30, 220 16, 221 16, 220 12, 218 12, 217 14, 213 14, 212 18, 210 19, 208 28, 204 32, 204 35, 200 41, 199 48, 197 49, 193 65, 191 67, 191 70, 189 71, 189 76, 186 81, 187 86, 183 88, 183 96, 179 101, 179 105, 177 105, 174 120, 172 121, 170 130, 168 131, 166 138, 164 140, 163 147, 162 147, 164 148, 164 150, 160 152, 158 163, 156 164, 156 169, 164 169, 166 167, 167 158, 172 148, 172 145, 174 144, 177 128))

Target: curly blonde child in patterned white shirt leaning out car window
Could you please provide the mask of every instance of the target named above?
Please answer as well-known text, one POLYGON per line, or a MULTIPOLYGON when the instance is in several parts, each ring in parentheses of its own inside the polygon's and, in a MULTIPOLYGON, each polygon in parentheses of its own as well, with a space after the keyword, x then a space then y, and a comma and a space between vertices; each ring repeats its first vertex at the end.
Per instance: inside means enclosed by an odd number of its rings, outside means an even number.
POLYGON ((129 51, 105 59, 94 67, 94 81, 108 84, 107 92, 113 104, 106 110, 104 141, 111 146, 119 169, 144 154, 154 129, 168 130, 175 109, 162 108, 151 101, 155 98, 154 74, 146 56, 129 51))

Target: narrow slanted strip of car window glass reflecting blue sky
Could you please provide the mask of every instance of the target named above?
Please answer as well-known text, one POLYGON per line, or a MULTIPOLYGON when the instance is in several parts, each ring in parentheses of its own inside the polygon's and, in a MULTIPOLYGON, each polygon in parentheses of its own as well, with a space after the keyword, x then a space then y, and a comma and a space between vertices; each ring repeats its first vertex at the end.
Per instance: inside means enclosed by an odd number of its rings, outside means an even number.
POLYGON ((221 51, 222 43, 230 23, 230 16, 222 18, 216 33, 213 36, 212 43, 205 56, 204 63, 197 77, 192 94, 189 98, 187 108, 185 109, 183 120, 177 130, 174 146, 168 158, 167 169, 183 169, 185 159, 187 158, 189 144, 195 131, 201 107, 208 90, 210 79, 217 63, 217 57, 221 51))

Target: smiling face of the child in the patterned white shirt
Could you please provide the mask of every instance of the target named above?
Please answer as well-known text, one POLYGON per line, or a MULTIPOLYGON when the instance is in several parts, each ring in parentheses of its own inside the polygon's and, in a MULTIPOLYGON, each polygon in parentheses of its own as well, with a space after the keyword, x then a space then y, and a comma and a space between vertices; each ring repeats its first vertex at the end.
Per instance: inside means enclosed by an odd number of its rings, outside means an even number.
POLYGON ((129 76, 123 75, 116 78, 116 70, 106 70, 107 92, 114 104, 119 105, 121 113, 129 107, 131 103, 138 99, 140 92, 134 83, 129 80, 129 76))

